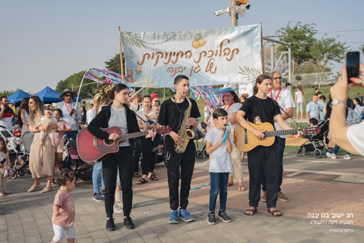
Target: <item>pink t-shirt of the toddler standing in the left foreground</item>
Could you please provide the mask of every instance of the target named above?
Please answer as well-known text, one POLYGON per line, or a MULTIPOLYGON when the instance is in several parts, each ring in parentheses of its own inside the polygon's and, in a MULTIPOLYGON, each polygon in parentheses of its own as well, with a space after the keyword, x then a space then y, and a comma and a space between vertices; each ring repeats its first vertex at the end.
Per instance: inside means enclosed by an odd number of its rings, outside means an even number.
POLYGON ((63 226, 63 227, 71 227, 75 222, 75 200, 71 192, 69 191, 61 191, 59 190, 54 197, 54 204, 60 206, 59 212, 61 215, 54 218, 54 213, 52 217, 52 224, 63 226))

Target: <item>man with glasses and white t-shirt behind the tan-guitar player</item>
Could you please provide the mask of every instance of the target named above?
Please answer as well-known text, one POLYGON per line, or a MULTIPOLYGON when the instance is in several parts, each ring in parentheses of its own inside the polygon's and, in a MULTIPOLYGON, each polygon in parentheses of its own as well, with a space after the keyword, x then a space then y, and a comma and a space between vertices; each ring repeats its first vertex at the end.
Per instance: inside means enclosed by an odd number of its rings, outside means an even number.
MULTIPOLYGON (((271 99, 274 99, 278 102, 278 105, 282 107, 286 111, 288 115, 292 117, 293 115, 293 108, 296 107, 294 105, 294 101, 292 98, 292 93, 288 89, 282 88, 282 75, 277 72, 273 71, 270 75, 272 78, 272 89, 270 90, 270 93, 268 94, 268 97, 271 99)), ((287 119, 289 116, 284 113, 284 111, 281 111, 282 117, 285 122, 287 122, 287 119)), ((274 127, 276 130, 283 130, 276 121, 276 118, 274 118, 274 127)), ((281 201, 289 201, 288 197, 285 196, 281 192, 281 185, 283 180, 283 152, 286 144, 286 136, 279 136, 278 139, 278 195, 277 199, 281 201)), ((262 190, 263 190, 263 196, 261 197, 262 201, 266 201, 266 191, 267 191, 267 180, 265 176, 265 170, 263 168, 263 176, 262 176, 262 190)))

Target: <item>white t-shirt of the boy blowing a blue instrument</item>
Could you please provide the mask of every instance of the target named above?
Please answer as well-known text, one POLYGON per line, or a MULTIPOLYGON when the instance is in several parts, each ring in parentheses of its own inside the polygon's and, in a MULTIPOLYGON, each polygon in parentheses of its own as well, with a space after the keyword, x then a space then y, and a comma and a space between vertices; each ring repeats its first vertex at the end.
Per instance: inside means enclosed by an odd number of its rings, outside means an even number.
MULTIPOLYGON (((231 133, 228 137, 233 144, 231 133)), ((211 142, 211 145, 221 141, 221 131, 212 128, 207 131, 204 141, 211 142)), ((232 172, 233 165, 231 164, 230 154, 227 152, 227 141, 222 143, 214 152, 210 153, 209 172, 224 173, 232 172)))

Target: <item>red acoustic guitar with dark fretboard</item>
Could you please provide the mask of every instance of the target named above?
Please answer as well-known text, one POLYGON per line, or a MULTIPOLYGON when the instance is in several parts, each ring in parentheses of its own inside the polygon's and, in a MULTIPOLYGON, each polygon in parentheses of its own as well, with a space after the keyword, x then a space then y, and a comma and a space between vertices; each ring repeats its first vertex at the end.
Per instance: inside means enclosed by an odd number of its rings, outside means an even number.
MULTIPOLYGON (((118 126, 112 126, 110 128, 101 128, 101 130, 111 134, 120 134, 117 140, 108 140, 96 138, 87 128, 83 128, 77 134, 77 151, 79 157, 87 164, 96 164, 104 160, 106 157, 119 153, 119 144, 129 138, 146 136, 149 131, 123 134, 122 130, 118 126)), ((171 128, 160 127, 153 129, 158 134, 165 134, 171 132, 171 128)))

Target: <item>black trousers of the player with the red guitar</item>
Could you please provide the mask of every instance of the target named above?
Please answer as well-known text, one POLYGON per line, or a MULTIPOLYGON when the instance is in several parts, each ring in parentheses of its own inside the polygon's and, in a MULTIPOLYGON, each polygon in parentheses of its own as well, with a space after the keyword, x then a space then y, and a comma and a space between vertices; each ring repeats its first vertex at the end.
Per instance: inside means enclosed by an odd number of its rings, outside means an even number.
POLYGON ((106 217, 111 218, 114 213, 114 196, 116 176, 120 176, 123 192, 124 216, 129 217, 133 200, 132 178, 134 170, 134 156, 130 146, 119 147, 120 153, 107 157, 102 161, 102 171, 105 177, 105 210, 106 217))

